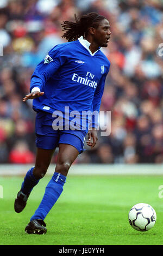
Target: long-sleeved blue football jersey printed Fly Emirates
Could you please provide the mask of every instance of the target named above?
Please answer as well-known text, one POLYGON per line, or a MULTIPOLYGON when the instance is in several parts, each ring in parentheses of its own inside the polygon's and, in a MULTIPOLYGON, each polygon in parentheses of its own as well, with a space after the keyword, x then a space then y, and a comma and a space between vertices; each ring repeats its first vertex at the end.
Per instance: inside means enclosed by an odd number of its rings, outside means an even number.
POLYGON ((44 92, 33 100, 33 109, 99 112, 109 67, 101 50, 92 55, 79 40, 54 46, 32 75, 30 92, 34 87, 44 92))

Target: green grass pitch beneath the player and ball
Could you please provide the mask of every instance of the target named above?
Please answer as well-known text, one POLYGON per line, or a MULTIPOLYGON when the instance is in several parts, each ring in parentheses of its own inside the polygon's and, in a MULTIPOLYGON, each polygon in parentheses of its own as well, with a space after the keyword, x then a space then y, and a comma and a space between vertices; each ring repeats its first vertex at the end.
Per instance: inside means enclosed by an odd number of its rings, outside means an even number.
POLYGON ((51 176, 33 189, 26 208, 14 212, 23 177, 0 177, 0 245, 163 245, 162 176, 67 176, 64 192, 45 219, 45 235, 29 235, 24 228, 42 199, 51 176), (136 231, 128 212, 137 203, 154 207, 155 226, 136 231))

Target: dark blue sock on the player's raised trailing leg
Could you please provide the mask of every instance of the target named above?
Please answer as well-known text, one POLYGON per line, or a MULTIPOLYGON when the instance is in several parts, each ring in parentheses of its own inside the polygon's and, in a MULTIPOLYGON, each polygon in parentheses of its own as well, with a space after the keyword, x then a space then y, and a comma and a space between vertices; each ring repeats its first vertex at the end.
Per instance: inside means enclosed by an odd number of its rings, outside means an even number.
POLYGON ((27 171, 27 174, 24 177, 24 181, 21 186, 21 192, 26 194, 27 197, 29 197, 29 194, 32 191, 33 187, 36 186, 36 184, 39 182, 39 180, 36 180, 35 176, 33 175, 33 169, 34 167, 27 171))

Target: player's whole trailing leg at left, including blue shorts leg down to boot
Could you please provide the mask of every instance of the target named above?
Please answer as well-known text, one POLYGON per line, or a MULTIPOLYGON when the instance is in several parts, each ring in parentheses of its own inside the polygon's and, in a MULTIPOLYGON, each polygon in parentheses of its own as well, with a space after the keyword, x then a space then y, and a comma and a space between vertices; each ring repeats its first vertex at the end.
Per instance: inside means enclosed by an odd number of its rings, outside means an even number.
POLYGON ((36 162, 35 166, 28 170, 24 177, 21 190, 17 194, 14 204, 16 212, 21 212, 26 206, 30 192, 39 182, 40 178, 46 174, 54 148, 58 145, 58 132, 54 131, 48 123, 51 117, 51 114, 43 111, 39 111, 36 114, 36 162))

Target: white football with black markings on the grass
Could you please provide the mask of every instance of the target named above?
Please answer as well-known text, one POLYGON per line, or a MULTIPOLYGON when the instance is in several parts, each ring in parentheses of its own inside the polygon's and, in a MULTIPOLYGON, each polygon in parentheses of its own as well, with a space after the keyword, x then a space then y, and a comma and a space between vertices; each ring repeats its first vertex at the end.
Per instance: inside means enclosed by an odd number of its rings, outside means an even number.
POLYGON ((140 203, 129 211, 129 224, 138 231, 147 231, 154 227, 156 212, 151 205, 140 203))

